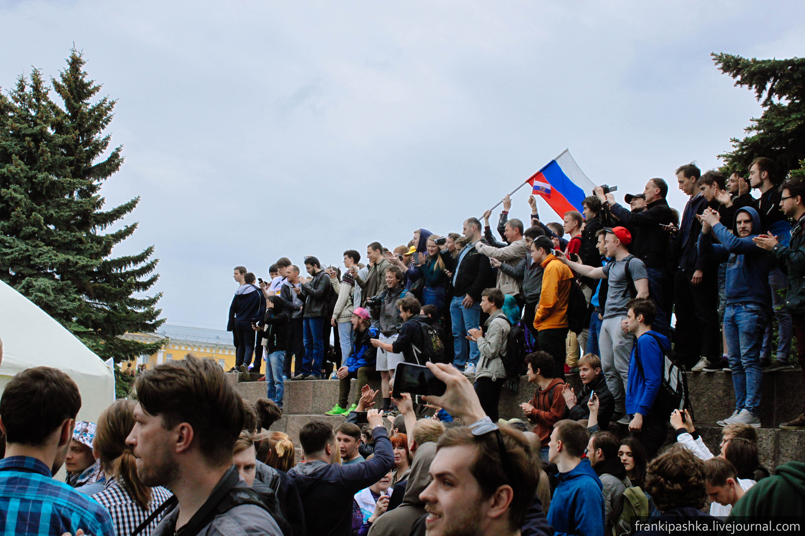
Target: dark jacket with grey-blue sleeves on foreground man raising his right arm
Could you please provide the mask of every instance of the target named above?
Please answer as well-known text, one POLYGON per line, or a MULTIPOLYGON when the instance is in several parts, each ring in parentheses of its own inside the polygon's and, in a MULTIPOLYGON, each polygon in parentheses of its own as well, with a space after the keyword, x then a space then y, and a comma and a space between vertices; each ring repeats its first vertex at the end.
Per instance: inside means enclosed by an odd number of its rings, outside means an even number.
POLYGON ((375 427, 374 457, 360 464, 328 464, 312 460, 288 471, 299 489, 308 534, 349 536, 353 496, 394 468, 394 451, 388 432, 375 427))

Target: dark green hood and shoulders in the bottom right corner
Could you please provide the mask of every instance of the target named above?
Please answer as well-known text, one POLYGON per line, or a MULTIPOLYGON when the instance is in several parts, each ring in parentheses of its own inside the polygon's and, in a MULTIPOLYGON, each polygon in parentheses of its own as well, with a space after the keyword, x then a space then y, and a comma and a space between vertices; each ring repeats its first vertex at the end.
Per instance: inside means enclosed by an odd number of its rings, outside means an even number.
POLYGON ((790 461, 754 484, 729 517, 805 516, 805 462, 790 461))

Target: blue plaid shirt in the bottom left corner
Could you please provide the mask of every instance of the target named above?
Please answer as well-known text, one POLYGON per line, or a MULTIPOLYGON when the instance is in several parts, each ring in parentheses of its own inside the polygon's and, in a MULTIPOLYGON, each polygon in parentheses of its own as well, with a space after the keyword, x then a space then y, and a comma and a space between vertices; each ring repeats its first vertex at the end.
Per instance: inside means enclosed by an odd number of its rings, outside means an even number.
POLYGON ((112 518, 96 501, 54 480, 41 460, 0 460, 0 534, 115 536, 112 518))

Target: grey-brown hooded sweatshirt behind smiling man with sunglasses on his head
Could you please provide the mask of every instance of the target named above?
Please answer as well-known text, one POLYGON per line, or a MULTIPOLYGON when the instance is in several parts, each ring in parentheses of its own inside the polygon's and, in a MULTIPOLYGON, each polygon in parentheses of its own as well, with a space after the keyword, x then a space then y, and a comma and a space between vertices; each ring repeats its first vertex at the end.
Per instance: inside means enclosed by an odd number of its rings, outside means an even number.
POLYGON ((414 463, 411 464, 411 472, 408 475, 408 485, 403 502, 397 508, 378 517, 378 520, 369 529, 369 536, 378 536, 378 534, 408 536, 417 517, 425 513, 425 502, 419 499, 419 494, 425 491, 433 480, 428 470, 431 468, 431 461, 434 457, 436 457, 436 443, 428 441, 417 447, 414 463))

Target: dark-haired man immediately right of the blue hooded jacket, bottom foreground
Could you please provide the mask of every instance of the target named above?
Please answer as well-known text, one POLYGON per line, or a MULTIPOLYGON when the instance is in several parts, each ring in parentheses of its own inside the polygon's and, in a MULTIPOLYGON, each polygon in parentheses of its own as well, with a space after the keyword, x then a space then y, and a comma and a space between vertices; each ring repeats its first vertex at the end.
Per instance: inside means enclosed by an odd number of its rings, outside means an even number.
POLYGON ((626 469, 617 456, 621 440, 612 432, 596 432, 590 436, 587 458, 604 486, 604 524, 617 519, 623 509, 623 492, 631 488, 626 469))

